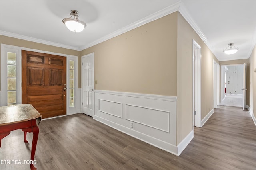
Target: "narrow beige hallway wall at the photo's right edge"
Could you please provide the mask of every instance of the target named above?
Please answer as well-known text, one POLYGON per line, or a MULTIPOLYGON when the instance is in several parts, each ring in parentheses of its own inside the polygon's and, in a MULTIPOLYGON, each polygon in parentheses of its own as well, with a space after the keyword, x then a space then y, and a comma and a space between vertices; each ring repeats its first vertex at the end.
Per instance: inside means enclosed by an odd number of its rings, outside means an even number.
MULTIPOLYGON (((254 114, 254 117, 256 117, 256 73, 254 72, 254 69, 256 68, 256 46, 254 47, 252 54, 250 55, 250 58, 248 60, 249 63, 249 86, 250 86, 250 111, 254 114)), ((248 87, 248 86, 247 86, 248 87)))

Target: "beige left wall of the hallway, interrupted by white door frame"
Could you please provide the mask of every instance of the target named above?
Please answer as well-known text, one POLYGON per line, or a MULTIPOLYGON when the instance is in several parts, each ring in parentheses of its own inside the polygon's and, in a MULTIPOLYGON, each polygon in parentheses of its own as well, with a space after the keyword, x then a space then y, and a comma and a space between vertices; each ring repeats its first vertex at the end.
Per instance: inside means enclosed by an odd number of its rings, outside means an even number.
POLYGON ((178 13, 177 145, 193 130, 193 39, 201 46, 201 117, 213 109, 213 59, 210 49, 178 13))

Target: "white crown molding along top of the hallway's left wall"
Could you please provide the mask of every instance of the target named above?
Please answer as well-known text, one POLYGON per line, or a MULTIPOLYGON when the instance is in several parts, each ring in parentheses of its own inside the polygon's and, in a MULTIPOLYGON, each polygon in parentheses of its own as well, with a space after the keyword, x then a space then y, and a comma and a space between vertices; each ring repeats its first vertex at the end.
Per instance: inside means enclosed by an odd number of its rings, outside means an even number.
MULTIPOLYGON (((180 14, 185 18, 185 20, 189 23, 189 25, 194 29, 194 31, 196 31, 196 33, 198 34, 198 36, 204 41, 204 43, 208 46, 208 48, 210 49, 210 51, 214 51, 214 48, 212 47, 212 45, 209 43, 208 39, 205 37, 204 33, 201 31, 201 29, 198 27, 198 25, 196 24, 196 22, 192 19, 192 17, 190 16, 190 14, 188 13, 187 8, 185 7, 183 2, 180 2, 180 8, 179 8, 179 12, 180 14)), ((213 53, 214 54, 214 53, 213 53)), ((214 54, 215 55, 215 54, 214 54)), ((218 59, 218 61, 220 61, 220 59, 215 55, 215 57, 218 59)))

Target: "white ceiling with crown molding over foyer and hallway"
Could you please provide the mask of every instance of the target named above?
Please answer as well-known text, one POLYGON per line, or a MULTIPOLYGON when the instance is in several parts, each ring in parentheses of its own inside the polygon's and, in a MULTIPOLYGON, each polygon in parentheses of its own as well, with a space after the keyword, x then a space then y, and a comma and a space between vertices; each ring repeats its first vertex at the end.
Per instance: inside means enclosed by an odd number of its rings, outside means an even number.
POLYGON ((82 50, 179 10, 219 61, 246 59, 256 43, 256 0, 1 0, 0 34, 82 50), (62 23, 78 10, 87 24, 62 23), (239 48, 225 55, 228 43, 239 48))

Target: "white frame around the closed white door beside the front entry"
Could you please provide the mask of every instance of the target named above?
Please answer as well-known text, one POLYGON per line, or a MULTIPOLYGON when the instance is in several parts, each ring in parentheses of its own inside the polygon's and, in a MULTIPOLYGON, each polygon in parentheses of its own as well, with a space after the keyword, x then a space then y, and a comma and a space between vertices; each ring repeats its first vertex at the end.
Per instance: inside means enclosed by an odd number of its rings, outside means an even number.
POLYGON ((81 57, 81 113, 83 112, 83 106, 82 106, 82 102, 83 102, 83 96, 84 96, 84 94, 83 94, 83 92, 84 92, 84 90, 83 90, 83 81, 84 81, 84 76, 83 76, 83 63, 82 63, 82 61, 83 61, 83 59, 84 58, 86 58, 86 57, 92 57, 92 60, 93 60, 93 64, 94 64, 94 66, 93 66, 93 76, 92 76, 92 78, 93 78, 93 80, 92 80, 92 82, 93 82, 93 91, 92 91, 92 115, 90 115, 90 116, 92 116, 92 117, 94 117, 94 114, 95 114, 95 105, 94 105, 94 89, 95 89, 95 60, 94 60, 94 52, 92 52, 92 53, 90 53, 90 54, 87 54, 87 55, 83 55, 82 57, 81 57))

